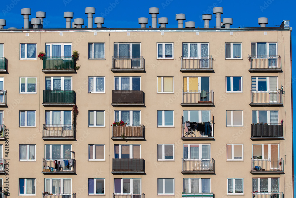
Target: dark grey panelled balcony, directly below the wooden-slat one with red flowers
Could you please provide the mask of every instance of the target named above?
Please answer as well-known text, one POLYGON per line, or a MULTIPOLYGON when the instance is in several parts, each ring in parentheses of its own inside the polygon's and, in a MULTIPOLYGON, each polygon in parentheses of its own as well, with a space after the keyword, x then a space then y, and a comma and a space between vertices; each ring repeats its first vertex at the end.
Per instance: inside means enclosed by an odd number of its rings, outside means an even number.
POLYGON ((112 173, 144 174, 144 159, 112 159, 112 173))

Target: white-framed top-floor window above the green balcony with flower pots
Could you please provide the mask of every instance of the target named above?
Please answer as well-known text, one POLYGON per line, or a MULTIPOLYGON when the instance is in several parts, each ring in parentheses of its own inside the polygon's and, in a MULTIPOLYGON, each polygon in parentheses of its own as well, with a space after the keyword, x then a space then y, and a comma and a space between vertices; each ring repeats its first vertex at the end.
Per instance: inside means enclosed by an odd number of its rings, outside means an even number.
POLYGON ((46 43, 45 53, 51 58, 71 58, 72 43, 46 43))

